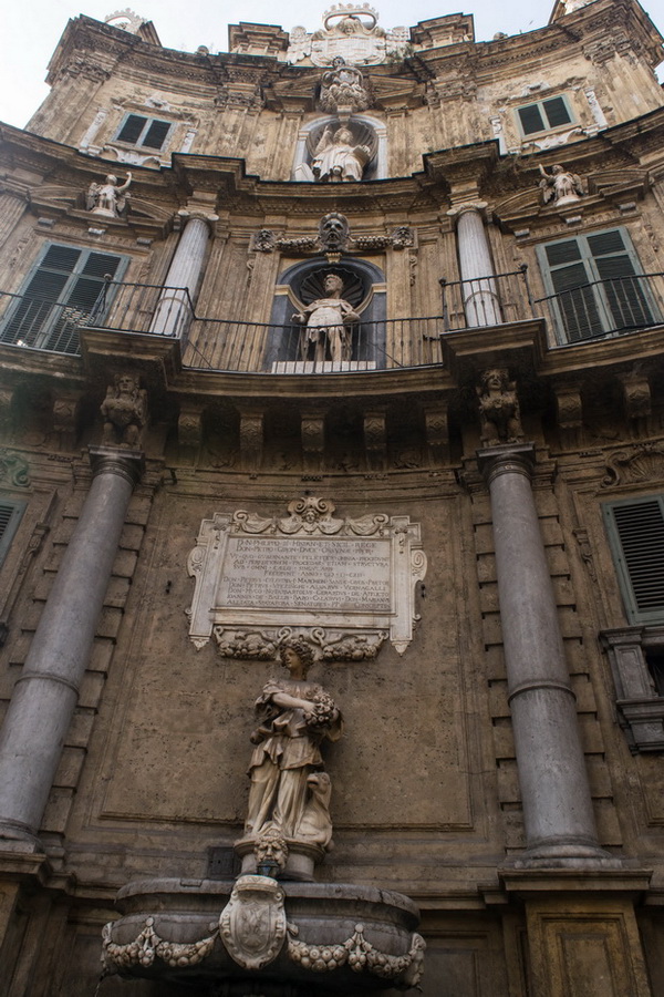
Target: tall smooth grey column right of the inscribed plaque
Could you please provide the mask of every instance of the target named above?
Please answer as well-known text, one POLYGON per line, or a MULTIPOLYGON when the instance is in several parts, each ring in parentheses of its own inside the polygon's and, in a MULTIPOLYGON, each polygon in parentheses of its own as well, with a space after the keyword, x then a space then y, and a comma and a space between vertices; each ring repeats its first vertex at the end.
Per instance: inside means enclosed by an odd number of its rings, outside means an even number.
POLYGON ((489 486, 525 864, 614 860, 599 847, 556 598, 530 484, 535 448, 478 451, 489 486))

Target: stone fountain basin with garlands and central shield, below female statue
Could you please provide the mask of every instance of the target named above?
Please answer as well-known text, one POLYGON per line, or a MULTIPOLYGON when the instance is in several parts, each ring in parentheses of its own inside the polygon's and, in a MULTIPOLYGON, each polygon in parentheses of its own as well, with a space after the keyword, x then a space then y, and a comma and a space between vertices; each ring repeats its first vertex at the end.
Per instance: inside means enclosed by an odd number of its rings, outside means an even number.
POLYGON ((260 875, 162 878, 125 886, 117 906, 103 962, 125 978, 190 985, 210 997, 360 997, 407 990, 422 976, 418 912, 400 893, 260 875))

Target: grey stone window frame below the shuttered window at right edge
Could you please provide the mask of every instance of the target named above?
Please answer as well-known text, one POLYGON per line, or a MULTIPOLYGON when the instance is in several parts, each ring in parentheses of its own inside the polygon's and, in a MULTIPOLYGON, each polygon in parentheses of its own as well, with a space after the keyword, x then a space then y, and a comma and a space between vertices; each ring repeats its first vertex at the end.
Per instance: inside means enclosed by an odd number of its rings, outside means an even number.
POLYGON ((601 630, 600 643, 611 665, 619 723, 630 751, 664 751, 664 696, 649 667, 649 656, 664 656, 664 625, 601 630))

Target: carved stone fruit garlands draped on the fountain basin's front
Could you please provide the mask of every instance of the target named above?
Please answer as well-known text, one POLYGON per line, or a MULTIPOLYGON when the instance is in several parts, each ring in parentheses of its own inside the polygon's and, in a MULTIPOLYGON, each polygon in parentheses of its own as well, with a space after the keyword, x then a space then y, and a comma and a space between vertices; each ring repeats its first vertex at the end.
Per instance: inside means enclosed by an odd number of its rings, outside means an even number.
MULTIPOLYGON (((196 966, 207 958, 220 935, 219 927, 198 942, 178 943, 160 938, 154 929, 155 918, 146 917, 145 927, 133 942, 118 945, 111 941, 113 922, 103 931, 102 962, 106 974, 116 969, 128 969, 131 966, 149 967, 159 958, 170 967, 196 966)), ((298 939, 299 928, 288 924, 288 955, 304 969, 325 973, 339 969, 346 964, 354 973, 364 970, 381 979, 394 979, 397 986, 409 988, 417 986, 422 978, 423 958, 426 943, 416 932, 411 938, 411 948, 403 956, 387 955, 378 952, 364 937, 364 925, 356 924, 355 931, 345 942, 329 944, 308 944, 298 939), (401 978, 400 978, 401 977, 401 978)), ((274 957, 278 953, 274 954, 274 957)))

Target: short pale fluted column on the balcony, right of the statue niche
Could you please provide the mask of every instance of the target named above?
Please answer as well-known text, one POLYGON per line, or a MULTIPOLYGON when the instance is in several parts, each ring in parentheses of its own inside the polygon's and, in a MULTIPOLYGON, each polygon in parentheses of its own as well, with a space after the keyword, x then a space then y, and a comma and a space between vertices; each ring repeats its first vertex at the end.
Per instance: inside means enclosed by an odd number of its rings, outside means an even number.
POLYGON ((466 321, 473 326, 497 326, 500 316, 494 263, 485 229, 486 202, 459 204, 447 214, 457 218, 457 248, 466 321))

